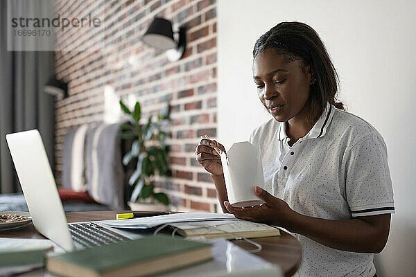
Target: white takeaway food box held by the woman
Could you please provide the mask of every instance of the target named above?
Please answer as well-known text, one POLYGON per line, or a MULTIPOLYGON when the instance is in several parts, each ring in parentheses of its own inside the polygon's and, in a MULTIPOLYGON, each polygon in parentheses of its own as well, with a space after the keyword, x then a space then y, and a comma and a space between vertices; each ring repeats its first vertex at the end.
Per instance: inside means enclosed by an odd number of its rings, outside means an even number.
POLYGON ((248 141, 234 143, 227 151, 227 156, 221 154, 229 203, 236 207, 264 203, 254 193, 256 186, 264 189, 261 157, 254 145, 248 141))

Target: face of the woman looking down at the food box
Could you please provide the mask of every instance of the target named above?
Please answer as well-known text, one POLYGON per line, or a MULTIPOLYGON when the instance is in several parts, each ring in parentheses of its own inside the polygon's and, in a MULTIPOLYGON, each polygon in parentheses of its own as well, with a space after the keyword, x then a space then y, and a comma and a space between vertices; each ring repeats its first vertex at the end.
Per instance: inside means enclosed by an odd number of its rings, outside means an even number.
POLYGON ((309 66, 302 70, 300 60, 289 61, 286 55, 267 48, 254 58, 253 79, 261 102, 277 121, 306 117, 309 66))

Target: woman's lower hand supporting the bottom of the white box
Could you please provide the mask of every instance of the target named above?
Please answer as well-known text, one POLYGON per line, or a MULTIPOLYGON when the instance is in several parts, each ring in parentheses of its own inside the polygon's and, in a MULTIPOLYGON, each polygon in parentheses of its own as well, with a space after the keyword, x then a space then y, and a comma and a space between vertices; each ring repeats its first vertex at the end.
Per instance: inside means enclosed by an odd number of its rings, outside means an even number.
POLYGON ((265 203, 257 206, 237 208, 229 204, 228 201, 225 201, 224 205, 229 213, 233 213, 242 220, 286 226, 286 223, 294 213, 289 205, 258 186, 254 189, 254 192, 265 203))

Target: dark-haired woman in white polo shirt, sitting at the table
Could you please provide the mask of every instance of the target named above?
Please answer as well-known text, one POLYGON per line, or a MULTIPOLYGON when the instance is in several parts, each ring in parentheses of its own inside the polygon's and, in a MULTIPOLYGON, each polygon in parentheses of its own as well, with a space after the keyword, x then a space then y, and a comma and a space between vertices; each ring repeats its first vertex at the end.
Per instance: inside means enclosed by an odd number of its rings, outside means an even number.
POLYGON ((211 173, 225 213, 284 227, 302 244, 296 276, 375 276, 373 253, 394 213, 387 150, 379 132, 344 111, 338 76, 318 34, 283 22, 254 45, 253 79, 272 119, 252 132, 266 190, 261 206, 227 201, 216 141, 202 139, 197 161, 211 173))

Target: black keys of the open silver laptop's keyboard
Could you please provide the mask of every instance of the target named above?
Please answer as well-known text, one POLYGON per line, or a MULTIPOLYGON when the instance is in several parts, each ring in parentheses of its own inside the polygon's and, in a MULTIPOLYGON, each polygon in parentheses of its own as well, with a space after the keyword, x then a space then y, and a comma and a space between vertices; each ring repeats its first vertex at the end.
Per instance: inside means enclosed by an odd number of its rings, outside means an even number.
POLYGON ((72 240, 83 247, 95 247, 122 240, 130 240, 94 222, 68 224, 72 240))

